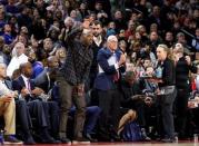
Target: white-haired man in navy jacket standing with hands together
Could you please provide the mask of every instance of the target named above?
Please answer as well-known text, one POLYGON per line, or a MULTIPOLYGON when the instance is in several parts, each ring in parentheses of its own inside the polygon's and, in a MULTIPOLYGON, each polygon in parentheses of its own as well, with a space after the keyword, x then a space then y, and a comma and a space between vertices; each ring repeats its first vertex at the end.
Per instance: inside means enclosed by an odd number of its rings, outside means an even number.
POLYGON ((116 36, 108 37, 107 48, 99 50, 97 61, 99 74, 94 81, 94 88, 98 90, 99 107, 102 109, 99 121, 99 138, 101 140, 118 140, 116 133, 120 108, 118 82, 120 71, 125 71, 126 57, 118 50, 116 36))

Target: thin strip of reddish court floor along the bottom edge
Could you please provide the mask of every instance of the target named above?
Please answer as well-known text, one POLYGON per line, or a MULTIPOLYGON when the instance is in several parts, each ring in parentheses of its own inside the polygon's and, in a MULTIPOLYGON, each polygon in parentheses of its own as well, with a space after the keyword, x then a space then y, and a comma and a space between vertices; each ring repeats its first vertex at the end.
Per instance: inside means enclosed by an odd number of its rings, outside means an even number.
MULTIPOLYGON (((7 146, 7 145, 6 145, 7 146)), ((13 145, 12 145, 13 146, 13 145)), ((67 144, 59 145, 37 145, 37 146, 69 146, 67 144)), ((199 146, 199 143, 179 142, 179 143, 91 143, 87 145, 71 144, 71 146, 199 146)))

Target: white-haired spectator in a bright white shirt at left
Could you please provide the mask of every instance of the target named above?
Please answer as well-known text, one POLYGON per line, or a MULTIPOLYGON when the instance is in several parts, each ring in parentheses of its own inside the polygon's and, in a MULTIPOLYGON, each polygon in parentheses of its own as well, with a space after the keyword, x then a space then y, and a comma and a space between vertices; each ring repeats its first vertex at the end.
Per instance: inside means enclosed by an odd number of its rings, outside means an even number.
POLYGON ((16 50, 16 56, 12 57, 12 59, 7 68, 7 76, 9 76, 9 77, 12 76, 12 74, 16 69, 19 69, 19 66, 21 64, 28 62, 28 57, 24 55, 26 48, 22 42, 16 43, 13 49, 16 50))

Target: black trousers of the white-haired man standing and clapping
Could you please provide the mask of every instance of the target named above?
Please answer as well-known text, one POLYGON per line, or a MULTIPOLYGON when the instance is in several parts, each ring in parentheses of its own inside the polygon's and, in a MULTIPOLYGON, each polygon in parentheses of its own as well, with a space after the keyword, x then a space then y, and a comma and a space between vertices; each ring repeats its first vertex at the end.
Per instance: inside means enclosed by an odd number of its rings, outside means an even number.
POLYGON ((117 89, 98 90, 98 96, 102 110, 99 118, 99 137, 109 139, 116 136, 118 129, 120 93, 117 89))

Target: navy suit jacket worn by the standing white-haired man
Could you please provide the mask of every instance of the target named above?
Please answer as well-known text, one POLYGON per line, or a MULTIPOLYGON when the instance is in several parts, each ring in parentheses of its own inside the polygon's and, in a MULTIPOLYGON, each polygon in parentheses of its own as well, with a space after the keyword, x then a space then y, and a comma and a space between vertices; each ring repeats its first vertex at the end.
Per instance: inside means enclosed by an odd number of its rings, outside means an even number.
MULTIPOLYGON (((119 60, 122 52, 117 49, 116 56, 119 60)), ((112 56, 112 52, 108 48, 102 48, 98 52, 97 61, 105 72, 98 74, 94 80, 94 88, 100 90, 109 90, 116 88, 113 82, 113 76, 117 74, 115 66, 109 66, 108 59, 112 56)), ((125 67, 119 69, 120 72, 125 72, 125 67)), ((121 77, 121 76, 120 76, 121 77)))

